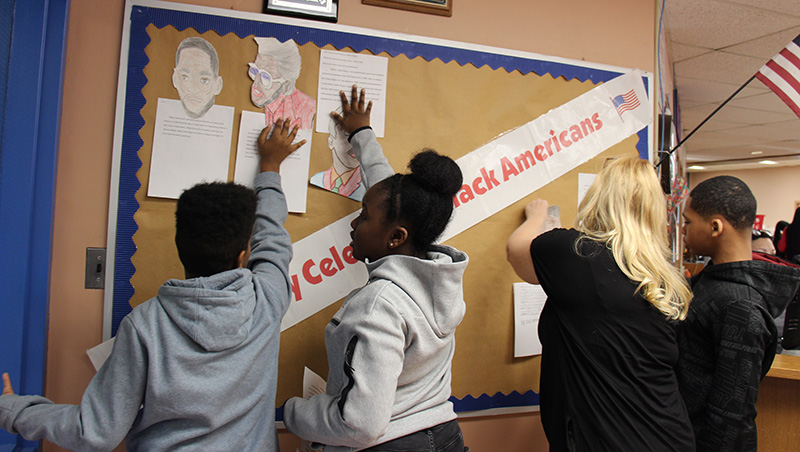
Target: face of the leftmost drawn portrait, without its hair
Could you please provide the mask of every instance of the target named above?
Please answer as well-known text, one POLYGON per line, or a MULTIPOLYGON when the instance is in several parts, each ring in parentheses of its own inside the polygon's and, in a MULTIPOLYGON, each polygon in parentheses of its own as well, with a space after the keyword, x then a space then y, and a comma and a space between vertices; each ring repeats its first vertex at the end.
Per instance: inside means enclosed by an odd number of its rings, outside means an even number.
POLYGON ((196 48, 180 51, 178 65, 172 72, 172 84, 192 118, 203 116, 214 105, 214 96, 222 91, 222 77, 214 74, 211 57, 196 48))

